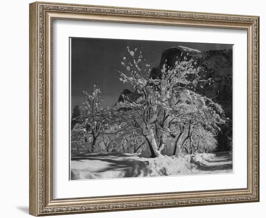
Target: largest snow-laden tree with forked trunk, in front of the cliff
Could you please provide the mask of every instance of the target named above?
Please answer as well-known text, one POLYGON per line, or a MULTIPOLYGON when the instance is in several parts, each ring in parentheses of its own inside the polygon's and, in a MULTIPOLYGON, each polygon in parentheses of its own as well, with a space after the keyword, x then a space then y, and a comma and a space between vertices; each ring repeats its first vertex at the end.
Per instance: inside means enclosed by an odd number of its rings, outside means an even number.
MULTIPOLYGON (((151 157, 162 155, 167 139, 174 139, 175 154, 180 153, 178 141, 192 140, 197 125, 206 129, 219 129, 224 123, 219 114, 220 105, 196 93, 195 87, 208 80, 200 79, 199 68, 193 59, 177 59, 174 67, 163 65, 161 78, 150 78, 150 65, 138 48, 123 57, 125 67, 119 80, 132 86, 139 95, 136 99, 124 95, 117 104, 123 123, 139 132, 147 141, 151 157)), ((183 54, 182 54, 183 55, 183 54)))

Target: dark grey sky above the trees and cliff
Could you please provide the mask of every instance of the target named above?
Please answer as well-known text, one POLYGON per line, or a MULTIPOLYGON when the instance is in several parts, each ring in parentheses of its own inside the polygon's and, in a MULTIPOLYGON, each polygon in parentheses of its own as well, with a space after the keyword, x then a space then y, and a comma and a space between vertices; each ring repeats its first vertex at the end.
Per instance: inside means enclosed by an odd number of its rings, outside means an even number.
POLYGON ((82 104, 83 91, 90 92, 93 84, 101 89, 103 104, 106 106, 113 106, 120 92, 126 88, 130 89, 118 80, 116 72, 124 69, 121 61, 127 53, 127 47, 131 50, 142 47, 142 52, 150 59, 152 68, 159 65, 163 50, 177 46, 201 51, 232 48, 232 45, 226 44, 71 38, 71 108, 82 104))

